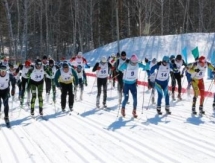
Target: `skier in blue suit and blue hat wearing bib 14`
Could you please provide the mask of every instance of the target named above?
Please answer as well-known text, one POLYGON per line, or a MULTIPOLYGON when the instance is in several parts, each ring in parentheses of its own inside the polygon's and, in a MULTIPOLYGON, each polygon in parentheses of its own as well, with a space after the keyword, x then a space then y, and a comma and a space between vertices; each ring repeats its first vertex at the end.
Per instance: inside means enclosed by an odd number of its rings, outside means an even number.
POLYGON ((150 74, 153 74, 157 69, 157 74, 155 78, 155 88, 157 89, 158 99, 157 99, 157 113, 160 115, 161 112, 161 100, 163 97, 163 92, 165 96, 165 110, 167 114, 171 114, 169 108, 169 93, 168 93, 168 82, 169 82, 169 74, 170 74, 170 63, 169 57, 164 56, 161 62, 158 62, 155 66, 153 66, 150 70, 150 74))

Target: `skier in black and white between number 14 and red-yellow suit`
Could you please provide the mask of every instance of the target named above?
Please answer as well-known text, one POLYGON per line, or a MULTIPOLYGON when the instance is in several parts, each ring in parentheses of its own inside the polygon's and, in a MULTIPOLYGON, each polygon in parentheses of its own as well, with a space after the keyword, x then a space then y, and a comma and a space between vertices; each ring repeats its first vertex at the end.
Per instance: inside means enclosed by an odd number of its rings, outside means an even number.
POLYGON ((178 54, 175 59, 171 60, 171 66, 172 66, 172 99, 175 100, 175 86, 176 86, 176 81, 178 84, 178 99, 182 100, 181 98, 181 78, 183 77, 183 74, 181 73, 181 67, 185 66, 187 67, 187 64, 184 62, 182 59, 181 54, 178 54))

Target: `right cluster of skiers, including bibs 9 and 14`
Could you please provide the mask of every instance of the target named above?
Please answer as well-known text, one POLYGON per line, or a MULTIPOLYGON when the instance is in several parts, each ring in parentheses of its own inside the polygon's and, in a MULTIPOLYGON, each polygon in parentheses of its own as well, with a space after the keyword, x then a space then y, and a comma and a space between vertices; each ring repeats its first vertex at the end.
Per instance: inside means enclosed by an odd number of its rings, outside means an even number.
MULTIPOLYGON (((138 79, 138 70, 147 72, 148 75, 148 89, 151 90, 150 99, 152 103, 155 103, 155 89, 157 90, 157 113, 162 114, 161 111, 161 102, 164 96, 165 99, 165 111, 167 114, 171 114, 170 111, 170 97, 169 97, 169 77, 171 78, 171 97, 172 100, 175 98, 175 88, 176 83, 178 85, 178 100, 182 100, 182 78, 184 73, 187 77, 187 91, 189 93, 190 86, 193 87, 194 96, 192 102, 192 113, 197 114, 196 112, 196 101, 200 95, 200 104, 199 104, 199 113, 204 114, 203 103, 205 99, 205 86, 204 86, 204 77, 207 68, 215 71, 215 67, 206 61, 204 56, 200 56, 193 63, 185 63, 181 54, 176 56, 164 56, 161 61, 157 61, 156 58, 153 58, 151 61, 148 58, 145 58, 145 65, 139 62, 137 55, 133 54, 130 58, 126 58, 126 52, 122 51, 120 55, 113 57, 111 55, 109 60, 103 56, 101 60, 95 64, 93 67, 93 72, 96 72, 97 77, 97 88, 98 93, 96 97, 96 107, 100 108, 100 95, 101 95, 101 86, 103 86, 103 107, 106 106, 107 99, 107 80, 108 72, 112 74, 112 80, 117 79, 117 91, 119 105, 122 101, 122 95, 124 100, 121 104, 121 115, 125 116, 125 106, 128 102, 129 91, 133 97, 133 117, 137 117, 137 88, 136 82, 138 79), (117 57, 119 56, 119 57, 117 57), (113 60, 114 58, 114 60, 113 60)), ((113 87, 115 86, 115 80, 113 80, 113 87)), ((213 102, 213 109, 215 111, 215 96, 213 102)))

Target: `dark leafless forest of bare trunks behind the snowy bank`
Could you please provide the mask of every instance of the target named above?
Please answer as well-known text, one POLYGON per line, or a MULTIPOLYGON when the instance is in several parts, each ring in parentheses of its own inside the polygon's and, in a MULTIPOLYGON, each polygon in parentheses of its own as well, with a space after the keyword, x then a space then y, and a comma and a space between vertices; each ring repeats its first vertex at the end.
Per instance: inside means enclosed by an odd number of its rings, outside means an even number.
POLYGON ((15 61, 70 58, 128 37, 215 31, 214 0, 0 1, 0 53, 15 61))

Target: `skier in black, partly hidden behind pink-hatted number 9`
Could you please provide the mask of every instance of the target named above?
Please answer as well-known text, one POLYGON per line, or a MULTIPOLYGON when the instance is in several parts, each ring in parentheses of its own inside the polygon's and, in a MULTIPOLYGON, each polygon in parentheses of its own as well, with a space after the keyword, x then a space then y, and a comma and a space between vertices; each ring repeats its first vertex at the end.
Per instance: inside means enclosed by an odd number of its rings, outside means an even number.
POLYGON ((117 91, 118 91, 118 96, 119 96, 119 104, 121 104, 122 101, 122 90, 123 90, 123 72, 120 71, 118 68, 124 63, 126 62, 127 58, 126 58, 126 52, 122 51, 120 58, 117 59, 117 61, 115 62, 114 68, 116 70, 116 78, 118 81, 117 84, 117 91))

